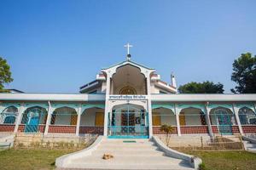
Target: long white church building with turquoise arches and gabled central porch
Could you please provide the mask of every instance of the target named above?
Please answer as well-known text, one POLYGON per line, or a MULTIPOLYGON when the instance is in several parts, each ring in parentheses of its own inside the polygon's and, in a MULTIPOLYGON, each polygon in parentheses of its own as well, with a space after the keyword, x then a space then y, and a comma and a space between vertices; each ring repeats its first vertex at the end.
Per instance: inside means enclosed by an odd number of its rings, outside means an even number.
POLYGON ((0 132, 147 139, 167 124, 177 136, 256 133, 256 94, 177 94, 170 82, 128 54, 80 94, 0 94, 0 132))

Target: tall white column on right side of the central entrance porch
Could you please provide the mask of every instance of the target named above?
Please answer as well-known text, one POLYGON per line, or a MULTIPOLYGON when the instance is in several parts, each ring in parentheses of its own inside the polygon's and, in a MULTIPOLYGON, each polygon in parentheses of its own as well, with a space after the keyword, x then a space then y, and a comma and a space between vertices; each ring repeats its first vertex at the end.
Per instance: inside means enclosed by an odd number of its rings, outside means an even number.
POLYGON ((152 127, 152 107, 151 107, 151 90, 150 90, 150 73, 147 76, 147 94, 148 94, 148 133, 149 138, 153 136, 153 127, 152 127))

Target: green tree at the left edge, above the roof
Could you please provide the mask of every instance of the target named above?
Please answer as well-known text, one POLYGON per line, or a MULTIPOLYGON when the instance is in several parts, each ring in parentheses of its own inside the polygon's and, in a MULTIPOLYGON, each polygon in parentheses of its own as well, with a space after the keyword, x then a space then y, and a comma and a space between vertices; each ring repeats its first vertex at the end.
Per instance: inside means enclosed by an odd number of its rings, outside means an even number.
POLYGON ((0 57, 0 91, 3 92, 5 83, 13 82, 13 80, 7 60, 0 57))

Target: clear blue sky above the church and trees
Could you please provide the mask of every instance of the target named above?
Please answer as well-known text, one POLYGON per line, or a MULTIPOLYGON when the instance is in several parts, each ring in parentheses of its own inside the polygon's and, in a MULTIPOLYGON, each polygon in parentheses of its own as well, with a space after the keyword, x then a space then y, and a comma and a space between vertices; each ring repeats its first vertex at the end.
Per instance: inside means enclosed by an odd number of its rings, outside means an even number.
POLYGON ((11 65, 7 88, 78 93, 102 67, 125 59, 170 82, 230 81, 241 53, 256 54, 256 1, 0 0, 0 56, 11 65))

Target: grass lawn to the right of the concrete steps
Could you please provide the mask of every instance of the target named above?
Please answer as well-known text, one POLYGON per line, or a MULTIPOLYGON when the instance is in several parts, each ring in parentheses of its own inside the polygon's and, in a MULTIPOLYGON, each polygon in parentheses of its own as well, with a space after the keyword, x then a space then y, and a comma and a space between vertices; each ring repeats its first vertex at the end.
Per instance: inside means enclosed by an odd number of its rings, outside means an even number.
POLYGON ((256 170, 256 154, 247 151, 186 151, 201 157, 206 170, 256 170))

